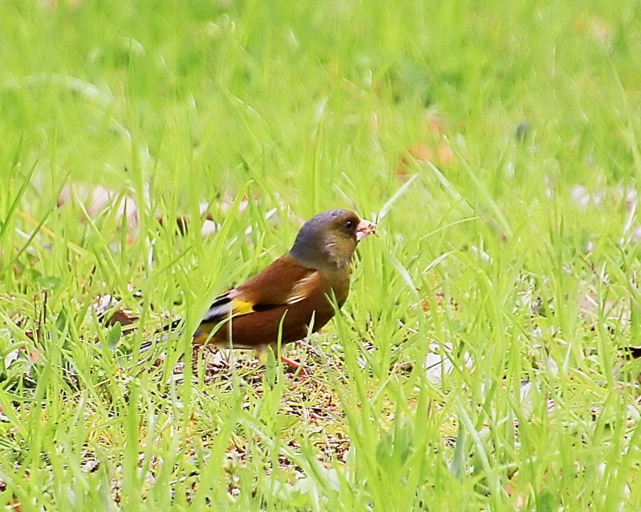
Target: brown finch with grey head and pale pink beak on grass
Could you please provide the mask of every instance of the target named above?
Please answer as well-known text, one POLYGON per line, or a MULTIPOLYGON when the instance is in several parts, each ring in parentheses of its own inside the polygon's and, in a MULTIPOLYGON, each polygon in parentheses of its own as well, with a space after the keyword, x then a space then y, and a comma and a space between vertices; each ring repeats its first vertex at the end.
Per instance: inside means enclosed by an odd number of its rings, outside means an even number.
MULTIPOLYGON (((213 300, 192 342, 253 349, 265 364, 269 348, 276 352, 279 332, 283 345, 304 339, 310 324, 311 332, 317 332, 334 316, 333 299, 342 307, 349 293, 356 246, 374 233, 376 224, 353 211, 333 209, 317 214, 304 223, 287 253, 213 300)), ((299 366, 285 356, 281 360, 299 366)))

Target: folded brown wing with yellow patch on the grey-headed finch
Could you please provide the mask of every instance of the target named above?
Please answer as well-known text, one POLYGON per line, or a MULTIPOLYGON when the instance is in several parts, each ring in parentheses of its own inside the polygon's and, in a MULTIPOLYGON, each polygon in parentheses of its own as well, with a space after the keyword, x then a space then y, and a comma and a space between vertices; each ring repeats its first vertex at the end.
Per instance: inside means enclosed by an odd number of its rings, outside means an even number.
POLYGON ((267 311, 304 300, 320 285, 320 275, 286 254, 244 284, 217 297, 203 322, 267 311))

